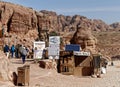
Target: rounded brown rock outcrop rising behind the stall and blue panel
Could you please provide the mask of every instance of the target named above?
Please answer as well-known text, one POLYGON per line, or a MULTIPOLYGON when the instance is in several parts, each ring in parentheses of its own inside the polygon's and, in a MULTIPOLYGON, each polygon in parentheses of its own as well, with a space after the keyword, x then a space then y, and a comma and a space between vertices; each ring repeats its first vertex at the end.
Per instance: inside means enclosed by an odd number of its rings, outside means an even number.
POLYGON ((72 44, 79 44, 82 50, 88 50, 96 53, 96 38, 91 34, 91 29, 78 25, 77 31, 71 39, 72 44))

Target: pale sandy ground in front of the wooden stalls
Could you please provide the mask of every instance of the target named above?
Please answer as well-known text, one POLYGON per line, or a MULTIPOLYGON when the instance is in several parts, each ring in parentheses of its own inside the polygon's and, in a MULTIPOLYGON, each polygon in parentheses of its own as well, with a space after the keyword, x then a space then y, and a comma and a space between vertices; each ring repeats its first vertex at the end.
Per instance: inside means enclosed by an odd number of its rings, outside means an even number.
MULTIPOLYGON (((16 72, 17 67, 24 65, 20 59, 10 59, 10 62, 11 70, 16 72)), ((107 66, 107 74, 102 74, 101 78, 62 75, 55 70, 42 69, 33 61, 26 64, 30 65, 30 87, 120 87, 120 61, 114 61, 114 66, 107 66)), ((0 82, 0 87, 7 87, 4 84, 0 82)))

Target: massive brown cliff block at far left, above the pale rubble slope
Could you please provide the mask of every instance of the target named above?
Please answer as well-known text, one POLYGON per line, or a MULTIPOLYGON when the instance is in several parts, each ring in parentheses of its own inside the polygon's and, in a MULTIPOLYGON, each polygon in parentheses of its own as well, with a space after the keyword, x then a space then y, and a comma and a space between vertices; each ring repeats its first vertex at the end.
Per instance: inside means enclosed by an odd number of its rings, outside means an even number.
POLYGON ((19 5, 0 2, 1 24, 7 26, 7 32, 27 33, 37 28, 35 11, 19 5))

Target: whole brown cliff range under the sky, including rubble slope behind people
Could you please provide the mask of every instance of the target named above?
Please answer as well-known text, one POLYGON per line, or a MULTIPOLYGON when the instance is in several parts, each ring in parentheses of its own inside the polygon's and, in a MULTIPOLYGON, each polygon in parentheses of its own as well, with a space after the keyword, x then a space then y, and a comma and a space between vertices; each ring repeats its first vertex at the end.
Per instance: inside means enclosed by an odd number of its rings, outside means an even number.
POLYGON ((0 1, 0 30, 4 28, 5 43, 10 45, 20 43, 31 47, 34 40, 48 41, 48 34, 52 31, 66 37, 63 41, 69 43, 78 31, 78 25, 85 27, 86 31, 107 31, 111 28, 101 20, 91 20, 80 15, 57 15, 46 10, 38 12, 0 1))

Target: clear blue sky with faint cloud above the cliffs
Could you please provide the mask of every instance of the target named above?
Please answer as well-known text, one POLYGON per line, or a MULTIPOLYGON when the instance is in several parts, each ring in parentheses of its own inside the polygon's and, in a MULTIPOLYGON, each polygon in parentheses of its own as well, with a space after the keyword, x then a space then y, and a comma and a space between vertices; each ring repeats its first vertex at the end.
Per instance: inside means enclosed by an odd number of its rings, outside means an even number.
POLYGON ((33 9, 63 15, 81 15, 101 19, 107 24, 120 22, 120 0, 3 0, 33 9))

